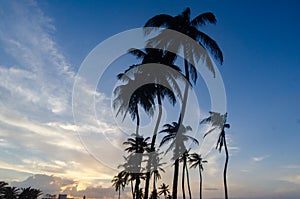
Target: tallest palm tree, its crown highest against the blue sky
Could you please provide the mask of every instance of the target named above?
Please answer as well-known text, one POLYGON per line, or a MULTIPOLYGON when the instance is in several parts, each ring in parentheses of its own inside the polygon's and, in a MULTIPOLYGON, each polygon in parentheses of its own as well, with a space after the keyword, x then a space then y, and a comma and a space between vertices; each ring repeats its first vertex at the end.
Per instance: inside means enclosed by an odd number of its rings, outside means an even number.
MULTIPOLYGON (((215 24, 216 18, 213 13, 206 12, 196 16, 194 19, 190 18, 190 9, 186 8, 180 15, 175 17, 167 15, 167 14, 159 14, 151 19, 149 19, 144 27, 165 27, 171 30, 178 31, 183 33, 193 40, 197 41, 200 46, 202 46, 205 50, 209 50, 212 55, 222 64, 223 63, 223 54, 221 49, 219 48, 218 44, 207 34, 200 31, 198 28, 200 26, 206 25, 206 23, 215 24)), ((145 29, 145 33, 150 33, 149 29, 145 29)), ((154 30, 154 29, 150 29, 154 30)), ((209 70, 215 74, 213 65, 210 61, 209 56, 203 50, 197 50, 197 48, 187 42, 184 39, 178 38, 170 38, 168 31, 162 30, 161 33, 149 40, 149 45, 152 46, 159 46, 163 45, 167 48, 167 46, 172 46, 171 48, 175 50, 180 50, 181 47, 184 49, 184 69, 185 69, 185 78, 187 82, 190 81, 190 75, 192 80, 196 82, 197 80, 197 71, 195 67, 193 67, 194 59, 197 61, 205 56, 207 66, 209 70), (192 63, 192 64, 191 64, 192 63)), ((185 90, 184 90, 184 97, 183 103, 181 108, 181 114, 179 117, 178 123, 181 123, 184 119, 187 97, 188 97, 188 88, 189 84, 186 83, 185 90)), ((173 196, 174 197, 174 196, 173 196)))

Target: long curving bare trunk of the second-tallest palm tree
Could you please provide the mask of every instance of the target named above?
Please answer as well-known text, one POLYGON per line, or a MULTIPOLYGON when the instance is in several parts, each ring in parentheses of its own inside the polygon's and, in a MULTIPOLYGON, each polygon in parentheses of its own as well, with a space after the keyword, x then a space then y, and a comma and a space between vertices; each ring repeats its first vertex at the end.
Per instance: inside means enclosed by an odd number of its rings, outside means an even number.
MULTIPOLYGON (((161 97, 160 97, 160 91, 158 89, 157 91, 157 103, 158 103, 158 116, 157 116, 157 120, 156 120, 156 124, 154 127, 154 131, 153 131, 153 136, 152 136, 152 140, 151 140, 151 151, 150 152, 154 152, 155 151, 155 141, 156 141, 156 136, 157 136, 157 132, 158 132, 158 127, 160 124, 160 120, 161 120, 161 115, 162 115, 162 103, 161 103, 161 97)), ((150 154, 149 157, 149 161, 148 161, 148 165, 147 165, 147 173, 146 173, 146 182, 145 182, 145 199, 148 199, 148 194, 149 194, 149 184, 150 184, 150 166, 151 166, 151 162, 152 162, 152 156, 150 154)))

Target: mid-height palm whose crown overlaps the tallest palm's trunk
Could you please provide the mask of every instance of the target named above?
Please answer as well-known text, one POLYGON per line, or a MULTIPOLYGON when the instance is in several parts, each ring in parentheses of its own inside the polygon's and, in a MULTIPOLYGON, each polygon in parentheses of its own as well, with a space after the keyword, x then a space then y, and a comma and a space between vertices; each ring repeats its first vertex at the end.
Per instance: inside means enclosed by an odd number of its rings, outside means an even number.
POLYGON ((198 140, 186 135, 188 131, 191 131, 192 128, 190 126, 185 127, 184 125, 180 125, 177 122, 173 122, 172 124, 165 124, 161 133, 167 133, 165 137, 163 137, 160 146, 171 142, 169 148, 166 150, 166 153, 173 149, 173 160, 174 163, 174 176, 173 176, 173 190, 172 197, 177 198, 177 186, 178 186, 178 174, 179 174, 179 157, 186 151, 185 142, 191 140, 195 144, 199 144, 198 140))

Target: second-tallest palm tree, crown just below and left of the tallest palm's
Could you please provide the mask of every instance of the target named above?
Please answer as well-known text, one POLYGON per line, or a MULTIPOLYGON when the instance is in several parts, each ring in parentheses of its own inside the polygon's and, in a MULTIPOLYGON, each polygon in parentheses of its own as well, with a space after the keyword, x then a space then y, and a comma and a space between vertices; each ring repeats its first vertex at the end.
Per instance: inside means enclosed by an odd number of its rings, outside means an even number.
MULTIPOLYGON (((139 67, 139 71, 148 79, 148 82, 153 82, 154 89, 147 89, 148 92, 155 92, 158 104, 158 117, 153 131, 152 141, 151 141, 151 152, 155 152, 155 142, 158 132, 158 127, 161 121, 162 116, 162 100, 164 97, 168 97, 170 103, 174 105, 176 103, 176 97, 173 91, 181 99, 180 88, 177 85, 176 80, 180 79, 179 75, 180 69, 174 65, 174 60, 176 55, 171 52, 165 52, 163 50, 155 48, 146 48, 145 51, 139 49, 131 49, 129 51, 131 54, 135 55, 137 58, 142 59, 141 65, 150 64, 147 67, 140 67, 140 65, 134 65, 129 68, 127 71, 132 70, 133 68, 139 67), (167 67, 159 67, 157 64, 163 64, 167 67), (169 68, 170 67, 170 68, 169 68)), ((125 71, 125 72, 127 72, 125 71)), ((148 86, 149 88, 149 86, 148 86)), ((151 161, 151 159, 149 159, 151 161)), ((149 192, 149 182, 150 182, 150 165, 147 165, 146 173, 146 184, 145 184, 145 199, 148 199, 149 192)))

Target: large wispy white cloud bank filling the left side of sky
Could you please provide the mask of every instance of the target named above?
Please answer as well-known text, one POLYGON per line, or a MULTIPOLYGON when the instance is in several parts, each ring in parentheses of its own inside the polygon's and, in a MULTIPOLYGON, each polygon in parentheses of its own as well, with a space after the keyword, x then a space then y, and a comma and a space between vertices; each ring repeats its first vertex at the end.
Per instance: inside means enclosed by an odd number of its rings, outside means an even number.
POLYGON ((34 1, 0 4, 0 172, 9 170, 13 179, 22 173, 19 181, 24 175, 43 173, 72 177, 81 181, 81 188, 97 180, 111 186, 108 180, 112 167, 116 168, 111 162, 118 162, 120 154, 110 150, 119 143, 112 146, 104 133, 113 139, 120 132, 108 122, 113 121, 107 114, 109 99, 83 85, 83 97, 97 96, 101 117, 95 118, 81 107, 81 114, 87 116, 85 123, 74 123, 75 71, 55 42, 52 19, 34 1), (93 148, 87 151, 82 141, 93 148), (95 160, 91 151, 98 157, 104 154, 104 160, 111 162, 95 160))

